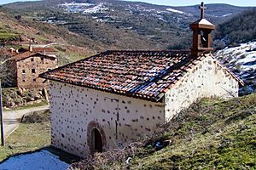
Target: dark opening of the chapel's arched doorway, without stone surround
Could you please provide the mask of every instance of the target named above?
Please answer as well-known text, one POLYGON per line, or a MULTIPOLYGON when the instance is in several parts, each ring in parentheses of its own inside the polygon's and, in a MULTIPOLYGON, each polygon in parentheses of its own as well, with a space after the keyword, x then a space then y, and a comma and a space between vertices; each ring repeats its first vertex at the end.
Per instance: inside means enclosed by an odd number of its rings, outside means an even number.
POLYGON ((96 128, 91 131, 91 146, 93 153, 102 152, 103 150, 102 135, 96 128))

